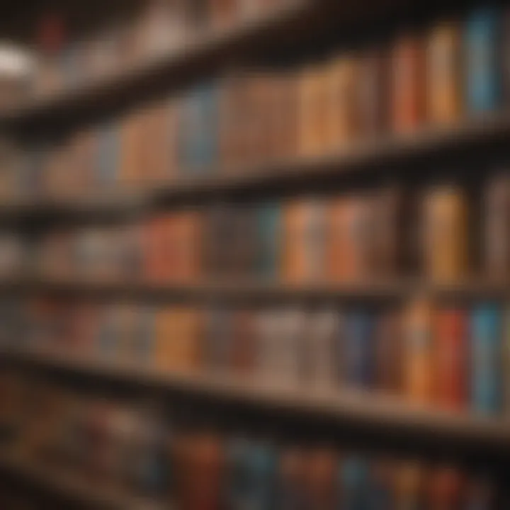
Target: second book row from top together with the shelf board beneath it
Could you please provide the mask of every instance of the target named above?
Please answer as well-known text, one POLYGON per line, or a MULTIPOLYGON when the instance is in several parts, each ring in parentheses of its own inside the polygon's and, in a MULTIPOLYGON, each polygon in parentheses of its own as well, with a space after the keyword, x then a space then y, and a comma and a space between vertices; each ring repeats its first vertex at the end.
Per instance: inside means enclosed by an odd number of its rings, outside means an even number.
POLYGON ((183 200, 275 189, 501 147, 509 119, 495 112, 506 109, 506 74, 497 38, 487 34, 499 30, 502 14, 475 10, 425 34, 398 34, 384 50, 343 50, 298 69, 238 69, 56 140, 6 144, 2 191, 14 204, 18 197, 90 210, 112 197, 121 205, 134 196, 137 205, 154 194, 183 200), (477 26, 487 29, 483 37, 477 26), (492 57, 480 73, 470 57, 477 45, 492 57), (443 75, 436 52, 463 69, 443 75))

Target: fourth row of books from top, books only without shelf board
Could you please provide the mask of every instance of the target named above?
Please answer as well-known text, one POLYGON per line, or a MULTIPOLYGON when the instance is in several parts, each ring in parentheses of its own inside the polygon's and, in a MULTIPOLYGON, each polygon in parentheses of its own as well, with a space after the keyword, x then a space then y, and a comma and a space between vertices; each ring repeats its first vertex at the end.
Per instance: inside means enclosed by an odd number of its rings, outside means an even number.
POLYGON ((1 346, 157 373, 228 376, 426 407, 510 412, 503 307, 191 307, 6 302, 1 346), (303 386, 301 386, 303 385, 303 386))

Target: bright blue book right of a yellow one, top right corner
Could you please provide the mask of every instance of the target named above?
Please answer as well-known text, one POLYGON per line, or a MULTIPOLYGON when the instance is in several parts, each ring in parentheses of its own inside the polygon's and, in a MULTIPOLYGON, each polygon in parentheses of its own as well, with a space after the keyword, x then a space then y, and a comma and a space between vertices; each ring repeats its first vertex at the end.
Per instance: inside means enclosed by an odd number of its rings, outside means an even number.
POLYGON ((500 18, 497 9, 481 8, 466 23, 466 106, 472 113, 493 111, 500 103, 500 18))

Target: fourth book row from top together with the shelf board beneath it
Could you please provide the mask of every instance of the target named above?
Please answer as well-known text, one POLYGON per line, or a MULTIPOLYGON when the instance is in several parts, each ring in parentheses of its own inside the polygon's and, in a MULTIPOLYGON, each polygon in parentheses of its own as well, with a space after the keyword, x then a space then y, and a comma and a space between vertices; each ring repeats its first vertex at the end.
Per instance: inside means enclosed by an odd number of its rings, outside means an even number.
POLYGON ((464 420, 468 436, 475 436, 477 423, 484 423, 477 415, 487 416, 480 441, 491 424, 487 441, 506 428, 508 326, 497 305, 232 307, 217 300, 208 306, 105 304, 80 296, 4 301, 1 312, 6 359, 26 356, 89 375, 209 389, 239 402, 310 408, 317 417, 337 413, 347 422, 388 420, 390 429, 412 430, 416 419, 423 436, 460 438, 464 432, 453 431, 464 420), (432 411, 415 414, 421 407, 432 411), (467 413, 472 418, 464 418, 467 413))

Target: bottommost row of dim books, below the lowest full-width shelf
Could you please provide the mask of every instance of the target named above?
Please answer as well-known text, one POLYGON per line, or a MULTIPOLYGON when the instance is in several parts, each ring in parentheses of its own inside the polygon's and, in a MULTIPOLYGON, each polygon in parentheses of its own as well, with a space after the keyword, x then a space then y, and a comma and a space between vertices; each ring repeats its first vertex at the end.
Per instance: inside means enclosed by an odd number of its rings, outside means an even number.
POLYGON ((152 404, 51 385, 38 387, 16 430, 26 455, 182 510, 496 508, 494 480, 483 470, 179 430, 152 404))

